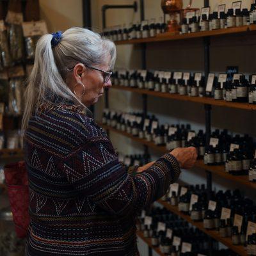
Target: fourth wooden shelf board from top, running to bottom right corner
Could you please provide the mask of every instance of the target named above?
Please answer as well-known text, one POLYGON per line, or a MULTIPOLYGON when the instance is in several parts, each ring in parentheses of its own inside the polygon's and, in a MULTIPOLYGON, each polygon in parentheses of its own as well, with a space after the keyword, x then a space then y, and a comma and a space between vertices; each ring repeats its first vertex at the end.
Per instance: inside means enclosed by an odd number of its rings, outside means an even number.
POLYGON ((227 246, 234 252, 238 253, 239 255, 247 255, 246 250, 244 250, 244 246, 233 245, 230 237, 221 237, 220 234, 216 230, 205 229, 202 221, 197 222, 197 221, 191 220, 191 218, 188 215, 180 212, 177 206, 172 206, 172 205, 168 204, 167 202, 163 202, 161 200, 158 200, 157 202, 159 202, 159 204, 163 205, 169 211, 180 216, 182 219, 188 221, 189 223, 191 223, 193 226, 200 229, 202 232, 204 232, 208 236, 211 236, 213 239, 220 241, 220 243, 225 244, 225 246, 227 246))

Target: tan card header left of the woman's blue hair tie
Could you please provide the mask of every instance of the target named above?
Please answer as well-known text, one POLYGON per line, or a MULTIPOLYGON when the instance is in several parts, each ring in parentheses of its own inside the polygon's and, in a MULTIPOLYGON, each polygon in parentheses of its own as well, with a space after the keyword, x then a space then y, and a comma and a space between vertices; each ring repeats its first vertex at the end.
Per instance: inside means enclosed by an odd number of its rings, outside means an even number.
POLYGON ((23 35, 29 36, 42 36, 48 33, 45 20, 22 22, 23 35))

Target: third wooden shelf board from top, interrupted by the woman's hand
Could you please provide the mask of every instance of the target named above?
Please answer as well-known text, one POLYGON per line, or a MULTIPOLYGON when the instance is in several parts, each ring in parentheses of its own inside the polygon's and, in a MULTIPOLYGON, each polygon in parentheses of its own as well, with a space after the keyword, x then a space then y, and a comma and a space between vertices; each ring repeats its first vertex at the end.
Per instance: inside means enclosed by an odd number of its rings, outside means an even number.
MULTIPOLYGON (((110 127, 108 125, 104 125, 104 124, 100 124, 100 126, 104 129, 109 129, 109 131, 113 131, 116 132, 118 134, 121 134, 127 138, 130 138, 131 140, 137 141, 138 143, 141 143, 143 145, 147 145, 150 148, 153 148, 154 150, 157 150, 163 154, 165 154, 166 152, 168 152, 168 150, 166 149, 166 147, 164 146, 157 146, 155 145, 153 142, 151 141, 147 141, 144 139, 140 139, 138 137, 134 137, 131 134, 127 133, 127 132, 123 132, 123 131, 119 131, 118 129, 115 129, 113 127, 110 127)), ((255 182, 251 182, 248 180, 248 175, 241 175, 241 176, 234 176, 234 175, 230 175, 228 173, 225 172, 225 167, 223 165, 220 166, 208 166, 204 164, 203 160, 197 160, 195 167, 200 168, 202 170, 207 170, 211 173, 214 173, 215 175, 218 175, 220 177, 223 177, 224 179, 227 180, 232 180, 234 182, 243 184, 244 186, 248 187, 248 188, 252 188, 252 189, 256 189, 256 183, 255 182)))

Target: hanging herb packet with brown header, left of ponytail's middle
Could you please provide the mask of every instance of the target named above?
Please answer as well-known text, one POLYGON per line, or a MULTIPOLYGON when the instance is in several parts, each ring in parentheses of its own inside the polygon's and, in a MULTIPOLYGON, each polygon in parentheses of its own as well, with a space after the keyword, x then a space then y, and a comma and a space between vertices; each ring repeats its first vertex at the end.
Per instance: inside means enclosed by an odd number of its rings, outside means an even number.
POLYGON ((8 113, 10 115, 22 114, 22 95, 24 83, 24 70, 22 66, 17 66, 9 70, 9 102, 8 113))

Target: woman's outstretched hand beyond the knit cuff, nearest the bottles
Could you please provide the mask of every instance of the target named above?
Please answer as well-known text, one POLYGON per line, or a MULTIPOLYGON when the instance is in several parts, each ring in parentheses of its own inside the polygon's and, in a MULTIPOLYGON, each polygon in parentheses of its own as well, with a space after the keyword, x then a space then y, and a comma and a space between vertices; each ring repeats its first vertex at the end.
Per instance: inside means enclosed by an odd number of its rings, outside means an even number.
POLYGON ((170 154, 177 159, 182 169, 190 169, 196 163, 197 152, 194 147, 175 148, 170 154))

